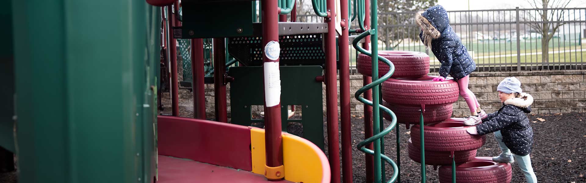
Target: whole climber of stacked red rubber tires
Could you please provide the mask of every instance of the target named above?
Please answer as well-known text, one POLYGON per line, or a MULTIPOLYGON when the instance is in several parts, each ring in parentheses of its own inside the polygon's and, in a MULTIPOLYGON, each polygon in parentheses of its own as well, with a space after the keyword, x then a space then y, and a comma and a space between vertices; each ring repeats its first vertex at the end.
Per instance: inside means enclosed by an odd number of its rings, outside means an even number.
MULTIPOLYGON (((466 133, 469 126, 465 118, 450 118, 452 104, 458 100, 458 83, 448 77, 444 82, 433 81, 438 76, 428 76, 430 57, 423 52, 380 51, 395 66, 395 72, 381 87, 383 105, 397 116, 397 122, 411 124, 408 152, 411 160, 421 163, 421 135, 424 137, 424 163, 441 165, 440 182, 510 182, 511 167, 507 163, 493 162, 490 157, 476 157, 476 150, 485 143, 483 135, 466 133), (423 110, 423 133, 420 119, 423 110), (452 157, 453 156, 453 157, 452 157), (455 172, 452 172, 452 159, 455 172), (454 175, 455 173, 455 175, 454 175), (455 179, 453 178, 455 176, 455 179)), ((360 54, 357 58, 359 73, 372 74, 371 59, 360 54)), ((389 66, 379 62, 379 74, 389 72, 389 66)), ((390 116, 384 116, 391 120, 390 116)), ((424 169, 423 169, 424 170, 424 169)))

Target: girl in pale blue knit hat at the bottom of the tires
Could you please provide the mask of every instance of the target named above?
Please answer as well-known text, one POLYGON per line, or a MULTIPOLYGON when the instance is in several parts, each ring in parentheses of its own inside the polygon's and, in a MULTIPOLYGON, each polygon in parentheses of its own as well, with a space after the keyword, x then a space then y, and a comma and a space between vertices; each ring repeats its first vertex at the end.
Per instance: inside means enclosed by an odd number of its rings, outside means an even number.
POLYGON ((470 134, 484 135, 494 132, 502 153, 493 157, 496 162, 515 162, 525 175, 527 183, 537 182, 531 166, 529 153, 532 150, 533 130, 526 114, 531 112, 533 97, 523 93, 521 82, 515 77, 507 77, 497 87, 503 106, 488 114, 483 123, 467 129, 470 134))

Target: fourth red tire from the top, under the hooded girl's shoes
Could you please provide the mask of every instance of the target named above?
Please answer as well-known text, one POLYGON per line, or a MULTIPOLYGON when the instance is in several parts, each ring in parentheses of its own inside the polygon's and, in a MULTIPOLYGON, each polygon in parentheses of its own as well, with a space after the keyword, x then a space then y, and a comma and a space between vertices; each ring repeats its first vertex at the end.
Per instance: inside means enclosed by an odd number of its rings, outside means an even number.
MULTIPOLYGON (((466 151, 475 150, 485 143, 485 135, 471 135, 466 132, 471 126, 452 120, 441 123, 426 124, 423 127, 425 150, 430 151, 466 151)), ((419 125, 411 127, 413 144, 420 143, 419 125)))

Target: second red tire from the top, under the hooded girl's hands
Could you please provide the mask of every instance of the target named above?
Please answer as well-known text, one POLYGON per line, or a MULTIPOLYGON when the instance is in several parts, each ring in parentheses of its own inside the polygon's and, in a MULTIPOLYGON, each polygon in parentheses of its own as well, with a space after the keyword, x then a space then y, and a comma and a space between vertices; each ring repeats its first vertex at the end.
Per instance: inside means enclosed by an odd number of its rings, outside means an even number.
POLYGON ((460 96, 458 83, 451 77, 444 82, 432 79, 441 76, 424 76, 417 79, 390 78, 383 82, 383 100, 410 106, 451 104, 460 96))

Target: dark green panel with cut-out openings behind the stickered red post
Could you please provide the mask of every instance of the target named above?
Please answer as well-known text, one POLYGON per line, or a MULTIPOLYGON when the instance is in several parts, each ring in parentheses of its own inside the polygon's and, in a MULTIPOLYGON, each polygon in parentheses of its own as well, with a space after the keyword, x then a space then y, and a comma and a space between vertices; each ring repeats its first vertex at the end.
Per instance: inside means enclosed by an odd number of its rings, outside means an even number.
MULTIPOLYGON (((281 121, 282 130, 287 131, 288 122, 301 123, 303 137, 323 150, 323 106, 321 66, 280 66, 281 70, 281 121), (287 118, 288 105, 301 105, 302 119, 287 118)), ((252 105, 264 105, 263 67, 230 67, 230 111, 234 124, 250 126, 252 105)))

